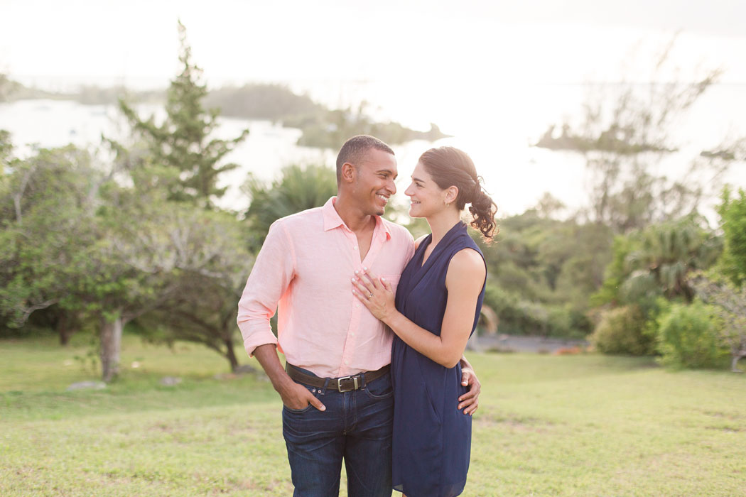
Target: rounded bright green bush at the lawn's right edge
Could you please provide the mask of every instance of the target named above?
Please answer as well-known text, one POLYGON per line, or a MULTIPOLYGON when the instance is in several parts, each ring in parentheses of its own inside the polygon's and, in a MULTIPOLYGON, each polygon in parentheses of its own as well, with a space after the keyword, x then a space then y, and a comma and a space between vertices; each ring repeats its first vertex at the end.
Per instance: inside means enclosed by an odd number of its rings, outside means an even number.
POLYGON ((658 352, 668 367, 718 367, 727 351, 718 341, 722 323, 712 306, 674 304, 658 319, 658 352))

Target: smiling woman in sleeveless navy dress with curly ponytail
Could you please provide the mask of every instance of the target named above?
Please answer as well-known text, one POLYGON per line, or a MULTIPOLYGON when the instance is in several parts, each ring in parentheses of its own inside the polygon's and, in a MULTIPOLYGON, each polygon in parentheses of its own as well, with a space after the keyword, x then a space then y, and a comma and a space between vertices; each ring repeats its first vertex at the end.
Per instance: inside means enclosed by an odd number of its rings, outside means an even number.
POLYGON ((427 219, 431 234, 418 241, 396 295, 368 270, 354 280, 353 293, 395 333, 394 490, 458 496, 466 484, 471 416, 453 399, 467 391, 459 361, 477 326, 486 281, 483 255, 461 212, 470 203, 471 226, 491 240, 496 207, 469 156, 452 147, 423 153, 404 193, 410 216, 427 219))

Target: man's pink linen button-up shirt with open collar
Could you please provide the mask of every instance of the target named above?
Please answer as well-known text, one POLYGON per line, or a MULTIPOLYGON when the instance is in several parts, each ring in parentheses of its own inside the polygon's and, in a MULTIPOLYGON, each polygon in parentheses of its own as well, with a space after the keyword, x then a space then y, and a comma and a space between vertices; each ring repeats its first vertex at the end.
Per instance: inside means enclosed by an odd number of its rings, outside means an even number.
POLYGON ((352 294, 363 266, 396 290, 414 253, 410 232, 376 217, 363 261, 357 237, 334 209, 323 207, 278 219, 254 262, 238 305, 238 326, 248 355, 278 344, 286 360, 336 378, 374 371, 391 362, 392 332, 352 294), (278 338, 269 319, 278 311, 278 338))

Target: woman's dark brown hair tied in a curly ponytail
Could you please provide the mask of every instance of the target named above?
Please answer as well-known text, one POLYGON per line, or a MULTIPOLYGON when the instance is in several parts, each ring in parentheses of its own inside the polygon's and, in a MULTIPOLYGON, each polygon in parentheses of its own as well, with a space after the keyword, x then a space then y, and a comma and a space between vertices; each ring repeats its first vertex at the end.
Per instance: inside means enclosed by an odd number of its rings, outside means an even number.
POLYGON ((496 234, 495 212, 498 206, 482 189, 483 179, 477 176, 477 168, 474 168, 471 157, 458 148, 439 147, 423 153, 419 162, 440 189, 445 190, 449 186, 459 189, 457 209, 461 211, 467 203, 471 204, 468 210, 474 220, 469 224, 482 232, 485 241, 491 241, 496 234))

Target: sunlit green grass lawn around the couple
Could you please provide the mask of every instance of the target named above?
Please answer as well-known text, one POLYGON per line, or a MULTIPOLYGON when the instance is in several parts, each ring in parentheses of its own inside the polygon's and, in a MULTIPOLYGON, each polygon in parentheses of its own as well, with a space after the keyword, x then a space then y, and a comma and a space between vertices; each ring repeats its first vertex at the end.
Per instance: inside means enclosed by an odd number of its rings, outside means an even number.
MULTIPOLYGON (((86 352, 0 341, 0 496, 292 494, 268 382, 215 379, 227 363, 200 346, 126 338, 118 382, 66 392, 96 379, 75 359, 86 352)), ((743 375, 601 355, 469 359, 483 391, 465 496, 746 496, 743 375)))

